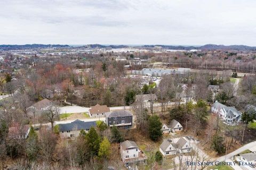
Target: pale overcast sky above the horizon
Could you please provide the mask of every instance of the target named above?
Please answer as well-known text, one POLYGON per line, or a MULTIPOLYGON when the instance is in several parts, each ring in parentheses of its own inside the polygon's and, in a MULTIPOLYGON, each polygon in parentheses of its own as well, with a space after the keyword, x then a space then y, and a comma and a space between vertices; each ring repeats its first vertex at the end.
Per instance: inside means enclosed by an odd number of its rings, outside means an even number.
POLYGON ((0 44, 256 46, 256 1, 0 0, 0 44))

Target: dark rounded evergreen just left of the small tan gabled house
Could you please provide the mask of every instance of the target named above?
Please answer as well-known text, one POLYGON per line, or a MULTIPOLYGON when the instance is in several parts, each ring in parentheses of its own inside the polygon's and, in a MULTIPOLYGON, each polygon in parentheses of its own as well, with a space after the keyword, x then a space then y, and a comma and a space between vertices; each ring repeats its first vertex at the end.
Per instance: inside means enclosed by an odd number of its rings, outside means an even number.
POLYGON ((159 117, 157 115, 150 116, 148 121, 149 121, 149 126, 148 126, 149 137, 151 140, 157 141, 163 135, 161 131, 162 123, 159 120, 159 117))

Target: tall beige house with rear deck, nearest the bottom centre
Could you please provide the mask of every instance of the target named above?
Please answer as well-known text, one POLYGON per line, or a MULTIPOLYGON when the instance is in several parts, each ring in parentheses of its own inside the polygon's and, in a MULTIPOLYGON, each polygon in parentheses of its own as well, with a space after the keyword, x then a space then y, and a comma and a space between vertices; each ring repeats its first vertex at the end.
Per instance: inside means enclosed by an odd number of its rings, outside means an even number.
POLYGON ((124 164, 142 163, 145 164, 147 156, 139 149, 134 141, 126 140, 120 145, 120 155, 124 164))

